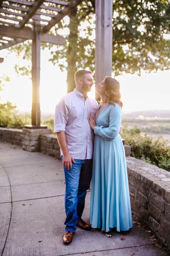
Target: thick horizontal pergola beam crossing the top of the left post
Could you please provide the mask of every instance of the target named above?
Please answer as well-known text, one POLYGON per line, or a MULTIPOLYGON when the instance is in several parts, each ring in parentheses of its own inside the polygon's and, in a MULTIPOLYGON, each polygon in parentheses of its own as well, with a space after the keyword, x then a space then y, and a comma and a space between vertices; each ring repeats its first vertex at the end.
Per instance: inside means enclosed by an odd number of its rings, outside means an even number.
MULTIPOLYGON (((0 31, 1 35, 3 36, 8 36, 8 37, 13 37, 13 38, 20 38, 20 39, 34 39, 34 32, 32 31, 31 28, 24 27, 22 30, 16 27, 7 27, 0 25, 0 31)), ((42 42, 49 42, 50 44, 59 44, 63 45, 66 42, 66 39, 62 36, 59 35, 50 35, 50 34, 44 34, 41 31, 41 41, 42 42)))

